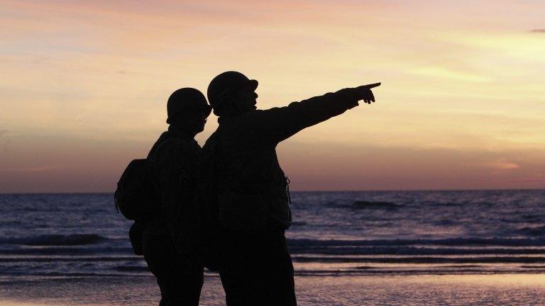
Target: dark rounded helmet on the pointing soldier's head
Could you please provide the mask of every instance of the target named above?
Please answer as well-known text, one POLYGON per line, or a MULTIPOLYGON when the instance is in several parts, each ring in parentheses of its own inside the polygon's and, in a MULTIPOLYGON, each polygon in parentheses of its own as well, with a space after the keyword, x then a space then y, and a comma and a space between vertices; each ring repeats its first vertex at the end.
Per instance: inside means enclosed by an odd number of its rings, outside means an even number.
POLYGON ((212 108, 216 110, 218 106, 228 101, 237 89, 246 85, 251 86, 251 89, 255 90, 258 88, 258 81, 248 79, 248 77, 240 72, 229 71, 221 73, 212 79, 208 86, 208 101, 212 108))

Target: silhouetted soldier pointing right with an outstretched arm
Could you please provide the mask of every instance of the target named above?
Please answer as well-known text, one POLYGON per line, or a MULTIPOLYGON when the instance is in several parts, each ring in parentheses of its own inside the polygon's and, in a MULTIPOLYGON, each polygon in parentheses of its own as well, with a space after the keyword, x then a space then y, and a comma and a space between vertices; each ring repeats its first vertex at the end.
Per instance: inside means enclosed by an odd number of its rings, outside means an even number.
POLYGON ((278 164, 275 147, 300 130, 321 123, 358 101, 375 101, 370 88, 256 110, 258 81, 239 72, 224 72, 208 87, 219 128, 203 149, 220 165, 218 220, 221 227, 221 282, 227 305, 296 305, 293 266, 285 229, 290 227, 289 181, 278 164))

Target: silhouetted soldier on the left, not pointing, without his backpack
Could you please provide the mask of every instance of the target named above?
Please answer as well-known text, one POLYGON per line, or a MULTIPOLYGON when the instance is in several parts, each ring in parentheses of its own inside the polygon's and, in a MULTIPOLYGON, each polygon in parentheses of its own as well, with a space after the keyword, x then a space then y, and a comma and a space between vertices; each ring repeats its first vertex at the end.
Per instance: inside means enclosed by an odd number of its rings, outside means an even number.
POLYGON ((211 108, 197 89, 178 89, 167 102, 168 131, 148 155, 157 183, 160 211, 143 231, 143 253, 157 278, 163 305, 199 305, 202 263, 192 249, 196 164, 211 108))

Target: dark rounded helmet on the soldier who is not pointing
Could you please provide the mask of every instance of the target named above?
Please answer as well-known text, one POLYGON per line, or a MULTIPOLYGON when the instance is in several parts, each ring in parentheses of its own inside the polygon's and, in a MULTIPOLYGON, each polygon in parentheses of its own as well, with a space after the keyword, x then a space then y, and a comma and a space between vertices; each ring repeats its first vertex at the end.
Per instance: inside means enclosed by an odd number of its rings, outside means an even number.
POLYGON ((212 108, 201 91, 186 87, 173 92, 168 98, 167 123, 172 123, 172 120, 184 111, 204 111, 208 116, 212 108))

